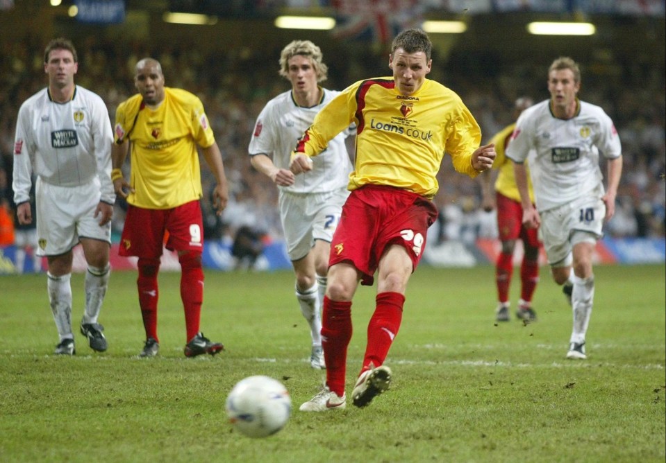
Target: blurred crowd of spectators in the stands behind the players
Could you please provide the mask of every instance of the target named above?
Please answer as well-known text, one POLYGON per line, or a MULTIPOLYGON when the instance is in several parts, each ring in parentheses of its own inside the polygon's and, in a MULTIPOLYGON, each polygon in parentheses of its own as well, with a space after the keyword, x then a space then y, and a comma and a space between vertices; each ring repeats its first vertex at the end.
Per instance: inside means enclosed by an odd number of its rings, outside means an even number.
MULTIPOLYGON (((306 38, 306 37, 305 37, 306 38)), ((233 241, 241 227, 251 227, 269 240, 282 237, 276 186, 253 170, 247 155, 254 123, 265 103, 289 82, 278 76, 278 58, 285 44, 262 49, 200 51, 192 44, 111 42, 99 37, 74 40, 79 67, 75 82, 99 94, 115 121, 115 108, 135 94, 134 65, 151 56, 160 60, 166 85, 181 87, 203 101, 210 124, 224 156, 230 182, 230 201, 222 217, 215 216, 208 193, 213 179, 202 169, 205 236, 233 241)), ((344 44, 319 44, 328 64, 324 87, 343 89, 356 80, 390 76, 388 51, 344 44)), ((43 68, 43 43, 13 42, 0 49, 0 202, 6 215, 13 213, 11 186, 15 119, 19 106, 47 85, 43 68)), ((575 53, 570 56, 576 60, 575 53)), ((547 68, 556 56, 526 59, 519 65, 492 62, 464 53, 446 59, 433 52, 428 76, 456 91, 472 111, 483 132, 483 141, 512 123, 512 107, 518 96, 534 101, 549 98, 547 68)), ((649 62, 605 62, 603 66, 580 62, 580 96, 603 107, 615 122, 622 140, 624 173, 617 195, 615 217, 606 234, 615 237, 663 237, 666 217, 665 70, 649 62)), ((353 149, 353 147, 350 147, 353 149)), ((350 152, 353 151, 350 150, 350 152)), ((602 166, 605 175, 605 166, 602 166)), ((436 241, 473 242, 497 236, 494 212, 481 209, 478 180, 454 173, 449 157, 439 175, 435 202, 440 220, 433 225, 436 241)), ((124 204, 117 202, 113 229, 122 230, 124 204)), ((0 243, 1 244, 1 243, 0 243)))

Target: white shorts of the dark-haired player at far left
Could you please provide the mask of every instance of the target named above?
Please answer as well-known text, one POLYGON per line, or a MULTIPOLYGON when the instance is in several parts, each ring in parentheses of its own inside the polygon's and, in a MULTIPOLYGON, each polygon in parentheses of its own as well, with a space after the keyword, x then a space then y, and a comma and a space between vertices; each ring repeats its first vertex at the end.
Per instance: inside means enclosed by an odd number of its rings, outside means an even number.
POLYGON ((111 224, 100 226, 94 217, 99 204, 99 179, 81 186, 35 184, 37 199, 37 254, 58 256, 76 246, 81 238, 111 243, 111 224))

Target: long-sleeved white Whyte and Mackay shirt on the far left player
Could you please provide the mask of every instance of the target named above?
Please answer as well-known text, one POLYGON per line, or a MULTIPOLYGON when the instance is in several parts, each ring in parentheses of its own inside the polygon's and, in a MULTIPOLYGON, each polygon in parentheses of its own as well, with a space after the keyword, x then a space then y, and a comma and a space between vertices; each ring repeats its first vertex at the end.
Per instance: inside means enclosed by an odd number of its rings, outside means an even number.
POLYGON ((19 109, 14 142, 14 201, 30 199, 31 174, 56 186, 81 186, 97 175, 103 202, 113 204, 113 132, 106 105, 76 86, 72 100, 56 103, 45 88, 19 109))

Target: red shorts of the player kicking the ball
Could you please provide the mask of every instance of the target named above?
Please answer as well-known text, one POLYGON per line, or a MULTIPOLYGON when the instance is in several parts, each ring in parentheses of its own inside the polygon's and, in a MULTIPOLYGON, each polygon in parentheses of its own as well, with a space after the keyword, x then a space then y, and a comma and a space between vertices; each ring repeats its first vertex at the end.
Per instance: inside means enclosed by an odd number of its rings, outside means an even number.
POLYGON ((370 286, 384 250, 398 244, 407 250, 414 271, 436 219, 437 208, 423 196, 392 186, 363 186, 342 207, 328 265, 351 263, 362 274, 361 284, 370 286))

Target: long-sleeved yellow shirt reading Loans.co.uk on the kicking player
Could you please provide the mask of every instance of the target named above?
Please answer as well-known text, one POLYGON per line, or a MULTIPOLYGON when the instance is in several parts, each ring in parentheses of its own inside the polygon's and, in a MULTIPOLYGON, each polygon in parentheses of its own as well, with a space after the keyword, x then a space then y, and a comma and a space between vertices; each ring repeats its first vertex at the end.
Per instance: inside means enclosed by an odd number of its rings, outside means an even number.
POLYGON ((481 129, 460 97, 434 80, 426 79, 412 96, 401 95, 392 77, 354 83, 317 114, 292 157, 317 155, 352 122, 357 134, 349 190, 389 185, 432 198, 444 152, 456 171, 478 174, 472 152, 481 129))

